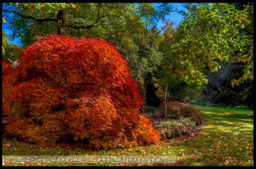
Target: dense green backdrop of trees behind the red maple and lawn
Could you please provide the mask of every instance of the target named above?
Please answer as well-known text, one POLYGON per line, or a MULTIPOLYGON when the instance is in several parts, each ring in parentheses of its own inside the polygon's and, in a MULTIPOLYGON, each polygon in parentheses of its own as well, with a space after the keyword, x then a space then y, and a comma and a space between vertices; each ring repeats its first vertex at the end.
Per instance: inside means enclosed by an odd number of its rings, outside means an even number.
POLYGON ((21 49, 7 39, 19 37, 26 47, 37 36, 57 34, 54 19, 64 11, 63 34, 103 38, 116 46, 146 105, 160 104, 168 81, 170 100, 252 106, 253 3, 183 6, 186 10, 176 9, 183 21, 166 20, 161 34, 157 21, 174 10, 166 3, 4 3, 3 26, 12 34, 3 33, 3 56, 15 65, 21 49))

